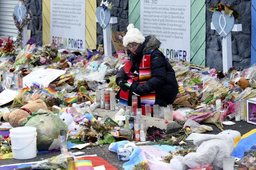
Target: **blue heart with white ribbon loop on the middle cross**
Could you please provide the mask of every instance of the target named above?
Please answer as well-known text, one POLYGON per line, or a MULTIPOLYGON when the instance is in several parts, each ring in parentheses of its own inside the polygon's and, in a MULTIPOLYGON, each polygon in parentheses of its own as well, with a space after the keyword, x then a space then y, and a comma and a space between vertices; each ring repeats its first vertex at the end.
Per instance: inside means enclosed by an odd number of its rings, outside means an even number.
POLYGON ((103 29, 106 28, 107 24, 109 23, 110 20, 110 10, 109 8, 106 8, 104 11, 102 7, 97 7, 96 8, 96 17, 98 19, 99 24, 103 29))

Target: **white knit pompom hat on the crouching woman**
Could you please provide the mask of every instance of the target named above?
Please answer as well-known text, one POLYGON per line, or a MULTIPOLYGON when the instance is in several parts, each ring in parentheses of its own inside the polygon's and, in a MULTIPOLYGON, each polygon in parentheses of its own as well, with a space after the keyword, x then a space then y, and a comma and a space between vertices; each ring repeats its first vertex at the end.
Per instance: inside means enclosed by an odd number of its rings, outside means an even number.
POLYGON ((138 28, 134 28, 133 24, 129 24, 127 27, 127 33, 123 37, 123 46, 127 46, 129 43, 138 43, 142 44, 145 41, 145 37, 138 30, 138 28))

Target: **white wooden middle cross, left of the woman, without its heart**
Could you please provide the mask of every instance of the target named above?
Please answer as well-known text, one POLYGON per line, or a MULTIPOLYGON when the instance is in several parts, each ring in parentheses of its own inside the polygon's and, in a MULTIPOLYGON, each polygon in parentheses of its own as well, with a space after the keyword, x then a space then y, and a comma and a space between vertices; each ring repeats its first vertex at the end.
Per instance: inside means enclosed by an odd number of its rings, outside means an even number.
MULTIPOLYGON (((98 22, 95 16, 96 22, 98 22)), ((104 42, 104 54, 105 56, 112 56, 112 46, 111 46, 111 24, 117 23, 117 17, 111 17, 106 28, 103 29, 103 42, 104 42)))

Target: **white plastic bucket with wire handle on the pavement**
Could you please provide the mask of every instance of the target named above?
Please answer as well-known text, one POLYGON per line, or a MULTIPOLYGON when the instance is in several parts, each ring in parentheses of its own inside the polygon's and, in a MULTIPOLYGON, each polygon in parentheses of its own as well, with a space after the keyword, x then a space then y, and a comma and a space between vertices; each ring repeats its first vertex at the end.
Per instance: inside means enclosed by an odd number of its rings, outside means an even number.
POLYGON ((11 150, 15 159, 31 159, 37 156, 37 128, 10 129, 11 150))

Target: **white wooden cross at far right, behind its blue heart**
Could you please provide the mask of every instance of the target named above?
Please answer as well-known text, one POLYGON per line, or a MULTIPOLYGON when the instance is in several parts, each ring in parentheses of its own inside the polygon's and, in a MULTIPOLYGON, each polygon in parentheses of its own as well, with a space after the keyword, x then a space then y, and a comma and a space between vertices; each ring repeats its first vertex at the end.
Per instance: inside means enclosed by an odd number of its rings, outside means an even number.
MULTIPOLYGON (((212 22, 211 29, 215 29, 212 22)), ((242 31, 242 24, 234 24, 231 31, 242 31)), ((222 39, 223 73, 226 73, 229 71, 229 68, 232 67, 231 31, 225 38, 222 39)))

